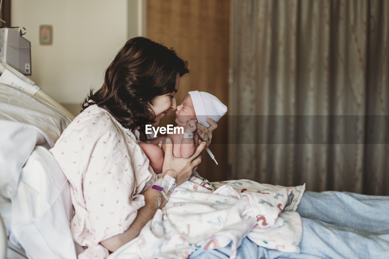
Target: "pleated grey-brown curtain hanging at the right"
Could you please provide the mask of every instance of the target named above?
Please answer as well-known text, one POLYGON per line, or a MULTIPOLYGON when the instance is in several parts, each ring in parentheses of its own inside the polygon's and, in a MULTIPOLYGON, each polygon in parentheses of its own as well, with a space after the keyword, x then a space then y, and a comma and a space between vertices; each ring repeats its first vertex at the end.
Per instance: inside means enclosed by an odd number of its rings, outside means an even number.
POLYGON ((389 1, 233 0, 232 179, 389 195, 389 1))

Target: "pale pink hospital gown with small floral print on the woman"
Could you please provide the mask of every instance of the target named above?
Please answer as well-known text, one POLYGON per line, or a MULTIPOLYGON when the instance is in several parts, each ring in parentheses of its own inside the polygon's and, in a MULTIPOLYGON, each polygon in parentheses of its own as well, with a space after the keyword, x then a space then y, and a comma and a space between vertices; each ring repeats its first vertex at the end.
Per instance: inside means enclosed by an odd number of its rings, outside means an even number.
POLYGON ((107 257, 99 244, 123 233, 145 205, 141 193, 156 180, 135 136, 110 113, 92 105, 78 115, 50 150, 70 182, 74 240, 79 258, 107 257))

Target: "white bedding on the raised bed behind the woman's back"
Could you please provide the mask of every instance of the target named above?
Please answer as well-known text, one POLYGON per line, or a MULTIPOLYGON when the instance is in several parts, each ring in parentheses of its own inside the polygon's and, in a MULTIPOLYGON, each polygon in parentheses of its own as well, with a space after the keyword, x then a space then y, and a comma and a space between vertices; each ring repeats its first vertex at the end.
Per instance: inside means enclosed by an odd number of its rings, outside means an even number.
POLYGON ((76 258, 68 182, 48 151, 69 123, 51 104, 0 84, 0 213, 9 259, 76 258))

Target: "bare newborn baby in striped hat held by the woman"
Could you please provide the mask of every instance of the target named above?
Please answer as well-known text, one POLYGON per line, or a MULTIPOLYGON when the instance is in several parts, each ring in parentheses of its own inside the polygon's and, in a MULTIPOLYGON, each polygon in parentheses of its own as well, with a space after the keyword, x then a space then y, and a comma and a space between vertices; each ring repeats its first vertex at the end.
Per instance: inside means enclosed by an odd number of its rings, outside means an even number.
MULTIPOLYGON (((183 127, 184 134, 168 134, 173 143, 173 155, 177 158, 189 158, 195 153, 198 146, 198 134, 196 122, 209 127, 207 118, 218 122, 227 112, 225 106, 216 96, 207 92, 191 91, 181 104, 177 106, 175 123, 176 127, 183 127)), ((182 132, 182 130, 178 130, 182 132)), ((156 137, 147 142, 139 142, 145 155, 150 160, 150 165, 156 174, 162 172, 163 158, 165 154, 166 137, 156 137)))

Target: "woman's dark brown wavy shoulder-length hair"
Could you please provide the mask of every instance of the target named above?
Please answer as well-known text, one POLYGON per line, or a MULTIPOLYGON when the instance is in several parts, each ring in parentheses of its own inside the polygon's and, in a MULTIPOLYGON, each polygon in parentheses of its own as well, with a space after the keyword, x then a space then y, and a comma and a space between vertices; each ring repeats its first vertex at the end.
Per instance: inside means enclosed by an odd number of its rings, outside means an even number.
POLYGON ((95 93, 90 90, 82 110, 97 104, 128 129, 152 124, 155 115, 150 105, 156 96, 174 91, 177 73, 183 76, 189 70, 173 48, 144 37, 131 38, 105 71, 102 87, 95 93))

